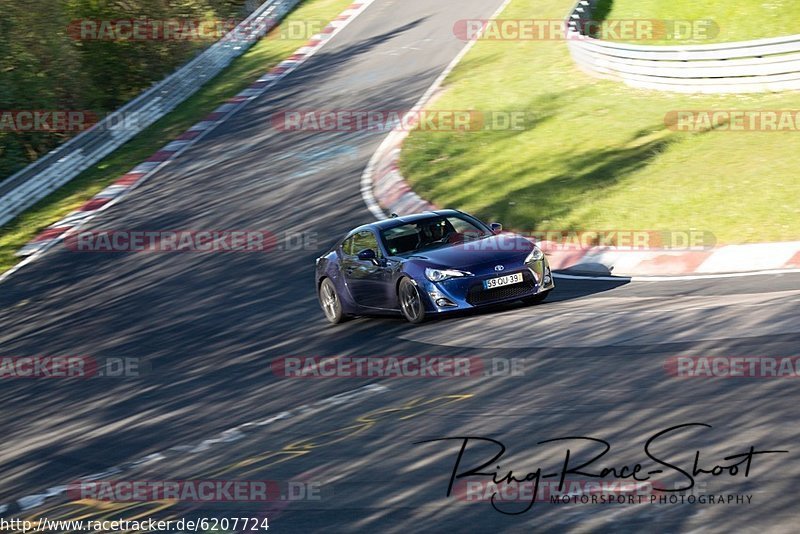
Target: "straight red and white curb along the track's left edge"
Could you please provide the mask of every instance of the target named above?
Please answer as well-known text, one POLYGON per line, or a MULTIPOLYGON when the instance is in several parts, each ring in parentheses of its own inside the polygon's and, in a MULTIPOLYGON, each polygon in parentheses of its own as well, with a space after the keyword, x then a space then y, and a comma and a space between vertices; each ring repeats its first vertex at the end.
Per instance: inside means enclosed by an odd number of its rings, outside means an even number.
POLYGON ((113 184, 103 189, 76 211, 73 211, 60 221, 51 224, 16 253, 17 256, 27 259, 0 276, 0 281, 39 257, 64 238, 74 234, 81 226, 86 224, 86 222, 101 211, 121 201, 128 193, 142 185, 161 168, 174 161, 183 152, 199 142, 203 137, 208 135, 235 113, 241 111, 249 102, 266 93, 280 80, 291 74, 300 65, 321 50, 335 35, 347 27, 348 24, 363 13, 374 1, 375 0, 364 0, 363 2, 351 4, 319 34, 311 37, 307 43, 295 50, 287 59, 274 66, 247 89, 243 90, 235 97, 228 99, 203 120, 162 147, 146 161, 140 163, 121 176, 113 184))

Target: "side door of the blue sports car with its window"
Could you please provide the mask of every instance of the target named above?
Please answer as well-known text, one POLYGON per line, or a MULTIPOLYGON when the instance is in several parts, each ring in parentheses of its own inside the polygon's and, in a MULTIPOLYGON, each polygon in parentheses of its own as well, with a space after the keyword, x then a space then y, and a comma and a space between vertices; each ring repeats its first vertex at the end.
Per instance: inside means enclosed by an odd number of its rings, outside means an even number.
POLYGON ((360 306, 389 309, 392 305, 391 272, 386 268, 376 235, 363 230, 352 236, 350 245, 352 248, 345 254, 342 267, 353 300, 360 306), (372 260, 358 259, 358 253, 367 249, 375 251, 378 265, 372 260))

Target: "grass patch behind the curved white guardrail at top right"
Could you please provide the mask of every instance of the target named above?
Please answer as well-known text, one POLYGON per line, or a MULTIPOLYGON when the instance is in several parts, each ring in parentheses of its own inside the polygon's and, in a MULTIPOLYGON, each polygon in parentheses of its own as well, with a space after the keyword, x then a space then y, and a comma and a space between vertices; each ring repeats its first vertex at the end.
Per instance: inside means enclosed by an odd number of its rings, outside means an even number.
POLYGON ((698 35, 696 39, 651 44, 745 41, 800 33, 797 0, 604 0, 598 9, 608 11, 606 19, 616 20, 710 20, 719 32, 710 39, 698 35))

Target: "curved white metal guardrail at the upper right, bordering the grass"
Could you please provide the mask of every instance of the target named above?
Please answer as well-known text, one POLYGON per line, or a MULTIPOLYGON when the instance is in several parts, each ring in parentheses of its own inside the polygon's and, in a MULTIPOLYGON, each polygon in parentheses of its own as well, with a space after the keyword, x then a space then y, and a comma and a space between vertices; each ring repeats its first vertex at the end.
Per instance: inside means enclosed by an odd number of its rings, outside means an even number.
POLYGON ((588 74, 679 93, 800 89, 800 35, 687 46, 615 43, 584 32, 597 2, 580 0, 567 19, 570 53, 588 74))

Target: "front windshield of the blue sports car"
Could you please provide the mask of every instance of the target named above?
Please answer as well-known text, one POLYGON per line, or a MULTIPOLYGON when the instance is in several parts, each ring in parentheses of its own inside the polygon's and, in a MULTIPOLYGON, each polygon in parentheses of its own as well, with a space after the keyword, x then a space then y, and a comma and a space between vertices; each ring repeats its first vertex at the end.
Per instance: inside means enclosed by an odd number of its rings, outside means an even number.
POLYGON ((487 229, 467 219, 431 217, 381 231, 386 250, 393 256, 456 245, 492 235, 487 229))

